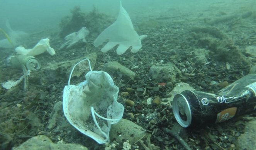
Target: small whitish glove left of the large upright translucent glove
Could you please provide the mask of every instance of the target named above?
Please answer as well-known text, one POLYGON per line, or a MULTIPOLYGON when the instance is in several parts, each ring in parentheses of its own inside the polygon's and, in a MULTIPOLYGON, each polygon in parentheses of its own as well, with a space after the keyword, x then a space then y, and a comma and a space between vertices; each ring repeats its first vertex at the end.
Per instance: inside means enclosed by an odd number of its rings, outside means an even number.
POLYGON ((76 44, 86 43, 85 37, 89 34, 89 30, 86 27, 82 27, 78 32, 71 33, 65 37, 66 42, 61 45, 61 49, 72 48, 76 44))

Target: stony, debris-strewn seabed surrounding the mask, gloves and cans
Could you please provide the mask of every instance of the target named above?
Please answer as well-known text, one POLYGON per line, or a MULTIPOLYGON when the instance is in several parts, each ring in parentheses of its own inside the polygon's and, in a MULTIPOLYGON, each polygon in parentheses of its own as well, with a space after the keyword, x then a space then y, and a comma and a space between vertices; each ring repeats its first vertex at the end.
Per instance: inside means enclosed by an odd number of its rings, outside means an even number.
MULTIPOLYGON (((25 150, 51 146, 161 150, 256 147, 256 113, 192 130, 178 125, 171 106, 172 97, 181 89, 216 93, 244 75, 256 73, 256 12, 223 12, 216 8, 215 13, 205 11, 199 17, 179 15, 182 17, 134 18, 132 22, 137 33, 147 33, 137 53, 127 50, 117 55, 113 49, 103 53, 101 47, 93 45, 95 33, 86 37, 86 44, 66 50, 59 49, 64 43, 63 38, 59 38, 59 30, 33 35, 34 42, 28 44, 30 47, 42 36, 50 35, 56 55, 42 53, 36 56, 42 68, 31 71, 27 90, 24 90, 23 82, 10 90, 0 87, 0 148, 25 150), (93 70, 110 74, 120 89, 117 102, 124 105, 123 119, 119 125, 111 126, 112 135, 106 144, 98 144, 80 133, 68 123, 63 113, 63 88, 73 65, 85 57, 90 59, 93 70), (124 130, 124 127, 133 128, 124 130)), ((113 18, 107 18, 104 28, 111 25, 109 20, 114 22, 113 18)), ((104 30, 100 28, 102 30, 95 31, 97 35, 104 30)), ((2 50, 0 82, 19 79, 22 70, 6 67, 3 61, 13 51, 2 50)), ((72 84, 85 80, 87 66, 87 63, 77 66, 72 84)))

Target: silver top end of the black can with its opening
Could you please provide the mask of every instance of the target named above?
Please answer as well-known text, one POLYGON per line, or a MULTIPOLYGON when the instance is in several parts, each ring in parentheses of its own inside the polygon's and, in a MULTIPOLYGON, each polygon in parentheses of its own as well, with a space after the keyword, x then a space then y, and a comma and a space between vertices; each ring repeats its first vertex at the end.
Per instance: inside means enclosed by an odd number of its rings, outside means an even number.
POLYGON ((189 127, 192 121, 190 105, 186 97, 182 94, 177 94, 173 98, 173 114, 181 127, 189 127))

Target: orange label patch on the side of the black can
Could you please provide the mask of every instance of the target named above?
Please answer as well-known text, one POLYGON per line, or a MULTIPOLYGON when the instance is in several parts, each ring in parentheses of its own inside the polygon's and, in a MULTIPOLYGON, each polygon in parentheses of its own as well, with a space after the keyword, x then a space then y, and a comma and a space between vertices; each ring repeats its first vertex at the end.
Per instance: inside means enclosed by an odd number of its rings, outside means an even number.
POLYGON ((236 109, 236 107, 231 107, 219 112, 215 123, 224 122, 233 118, 236 115, 236 109))

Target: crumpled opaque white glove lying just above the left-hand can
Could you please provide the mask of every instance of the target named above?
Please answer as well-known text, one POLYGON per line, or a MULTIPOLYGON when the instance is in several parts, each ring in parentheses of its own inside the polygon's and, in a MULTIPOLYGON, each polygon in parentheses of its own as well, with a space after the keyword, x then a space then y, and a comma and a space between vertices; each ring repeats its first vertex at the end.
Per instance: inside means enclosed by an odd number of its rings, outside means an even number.
POLYGON ((55 51, 53 48, 50 47, 49 38, 44 38, 40 40, 36 46, 32 49, 26 49, 22 46, 15 48, 15 51, 20 55, 29 55, 29 56, 36 56, 44 52, 48 52, 50 55, 55 55, 55 51))

